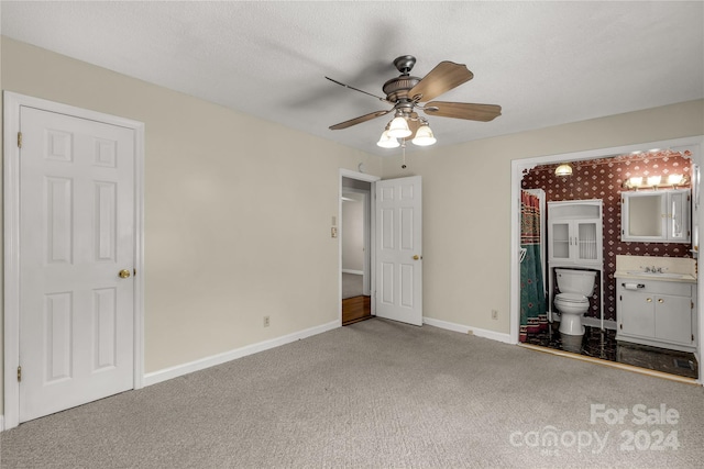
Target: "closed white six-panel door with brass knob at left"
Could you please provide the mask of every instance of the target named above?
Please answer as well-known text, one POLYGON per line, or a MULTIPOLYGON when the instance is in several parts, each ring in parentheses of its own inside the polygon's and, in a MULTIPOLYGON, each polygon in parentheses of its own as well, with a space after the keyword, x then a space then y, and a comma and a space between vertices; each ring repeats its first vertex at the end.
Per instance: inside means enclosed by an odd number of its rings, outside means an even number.
POLYGON ((135 135, 28 107, 20 125, 24 422, 134 387, 135 135))

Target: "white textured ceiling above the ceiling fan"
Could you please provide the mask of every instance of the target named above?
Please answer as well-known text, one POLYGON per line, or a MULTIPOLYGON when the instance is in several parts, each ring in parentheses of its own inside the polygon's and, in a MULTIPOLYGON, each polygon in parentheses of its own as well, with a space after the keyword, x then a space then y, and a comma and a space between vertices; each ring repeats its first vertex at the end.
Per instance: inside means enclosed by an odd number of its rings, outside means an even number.
MULTIPOLYGON (((378 155, 392 62, 474 79, 439 100, 499 104, 492 122, 430 118, 437 145, 704 98, 704 3, 2 1, 1 33, 378 155)), ((409 149, 413 145, 409 146, 409 149)))

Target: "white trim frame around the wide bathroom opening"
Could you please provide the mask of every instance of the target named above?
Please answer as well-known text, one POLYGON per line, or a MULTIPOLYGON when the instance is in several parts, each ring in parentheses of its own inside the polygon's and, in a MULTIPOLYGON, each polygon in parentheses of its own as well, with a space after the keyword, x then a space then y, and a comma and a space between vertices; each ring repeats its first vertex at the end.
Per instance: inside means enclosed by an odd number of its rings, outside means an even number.
MULTIPOLYGON (((548 165, 552 163, 569 163, 578 160, 587 160, 596 158, 606 158, 609 156, 625 155, 634 152, 648 152, 651 148, 672 148, 678 149, 681 147, 697 147, 698 152, 693 152, 692 163, 703 166, 704 163, 704 135, 674 138, 658 142, 645 142, 635 145, 624 145, 617 147, 596 148, 584 152, 573 152, 557 155, 544 155, 524 159, 514 159, 510 163, 512 166, 512 181, 510 181, 510 315, 509 315, 509 332, 510 343, 518 344, 518 333, 520 323, 520 268, 519 268, 519 249, 520 246, 520 181, 524 176, 524 171, 538 165, 548 165)), ((704 220, 704 203, 700 204, 696 213, 692 214, 692 222, 695 220, 704 220)), ((702 272, 704 267, 704 259, 702 256, 697 258, 697 271, 702 272)), ((697 358, 702 357, 702 350, 704 349, 704 281, 697 279, 697 358)), ((700 383, 704 383, 704 370, 700 368, 700 383)))

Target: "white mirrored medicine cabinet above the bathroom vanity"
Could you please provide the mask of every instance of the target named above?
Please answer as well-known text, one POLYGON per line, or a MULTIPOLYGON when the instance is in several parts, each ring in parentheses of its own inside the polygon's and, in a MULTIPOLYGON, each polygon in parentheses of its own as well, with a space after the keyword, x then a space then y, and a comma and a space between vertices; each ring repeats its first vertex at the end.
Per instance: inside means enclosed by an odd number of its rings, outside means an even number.
POLYGON ((690 189, 622 192, 624 242, 689 243, 690 189))

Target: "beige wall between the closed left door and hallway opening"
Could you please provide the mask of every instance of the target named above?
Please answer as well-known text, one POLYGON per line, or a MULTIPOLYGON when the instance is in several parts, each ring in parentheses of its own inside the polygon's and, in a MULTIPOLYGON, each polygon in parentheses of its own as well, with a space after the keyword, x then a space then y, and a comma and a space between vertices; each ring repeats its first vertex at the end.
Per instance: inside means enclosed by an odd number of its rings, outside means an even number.
POLYGON ((339 320, 339 168, 381 175, 378 157, 7 37, 1 52, 3 90, 145 123, 146 372, 339 320))

